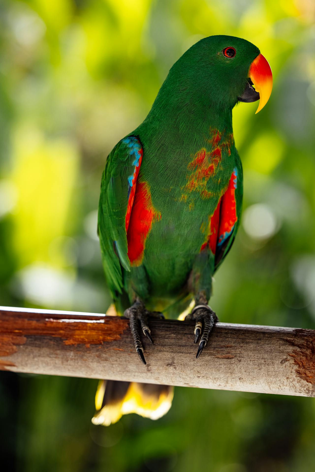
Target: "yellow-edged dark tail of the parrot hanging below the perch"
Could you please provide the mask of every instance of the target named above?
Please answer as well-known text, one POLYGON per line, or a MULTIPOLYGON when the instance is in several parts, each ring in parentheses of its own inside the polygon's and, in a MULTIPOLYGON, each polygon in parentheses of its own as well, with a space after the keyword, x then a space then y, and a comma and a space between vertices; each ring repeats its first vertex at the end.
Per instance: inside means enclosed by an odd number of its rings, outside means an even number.
POLYGON ((92 422, 109 426, 128 413, 157 420, 169 411, 173 394, 174 387, 168 385, 100 380, 92 422))

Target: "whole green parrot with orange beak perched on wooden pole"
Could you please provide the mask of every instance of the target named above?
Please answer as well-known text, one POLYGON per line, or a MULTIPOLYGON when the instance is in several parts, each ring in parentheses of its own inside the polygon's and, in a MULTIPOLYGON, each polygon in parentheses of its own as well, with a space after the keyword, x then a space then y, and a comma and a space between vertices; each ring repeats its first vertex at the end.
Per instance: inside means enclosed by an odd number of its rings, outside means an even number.
MULTIPOLYGON (((116 312, 130 320, 145 364, 142 332, 152 343, 150 316, 178 317, 195 303, 196 357, 217 321, 208 305, 212 277, 239 226, 243 175, 232 129, 238 101, 272 91, 271 68, 254 44, 210 36, 171 67, 144 122, 107 158, 98 234, 105 278, 116 312), (255 87, 255 88, 254 88, 255 87)), ((173 388, 102 380, 93 422, 122 414, 159 418, 173 388)))

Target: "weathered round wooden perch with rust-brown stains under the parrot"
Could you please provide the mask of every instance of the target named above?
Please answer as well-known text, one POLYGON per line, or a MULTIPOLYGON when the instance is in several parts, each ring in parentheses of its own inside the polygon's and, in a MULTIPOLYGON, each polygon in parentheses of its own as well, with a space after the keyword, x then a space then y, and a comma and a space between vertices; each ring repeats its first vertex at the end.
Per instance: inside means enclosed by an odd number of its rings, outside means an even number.
POLYGON ((0 307, 0 370, 315 396, 315 330, 218 323, 196 359, 191 322, 150 327, 143 365, 127 319, 0 307))

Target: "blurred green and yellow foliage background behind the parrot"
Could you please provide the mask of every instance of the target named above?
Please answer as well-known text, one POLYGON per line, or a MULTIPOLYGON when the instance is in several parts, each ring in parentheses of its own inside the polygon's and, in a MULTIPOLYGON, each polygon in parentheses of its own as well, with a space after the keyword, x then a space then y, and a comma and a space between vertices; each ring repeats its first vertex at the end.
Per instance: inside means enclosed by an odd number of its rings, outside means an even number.
MULTIPOLYGON (((231 34, 274 89, 234 112, 244 215, 214 284, 222 321, 315 328, 312 0, 1 0, 0 304, 105 312, 107 154, 193 43, 231 34)), ((192 352, 193 355, 193 352, 192 352)), ((1 470, 309 472, 310 398, 177 388, 160 421, 91 424, 97 381, 0 375, 1 470)))

